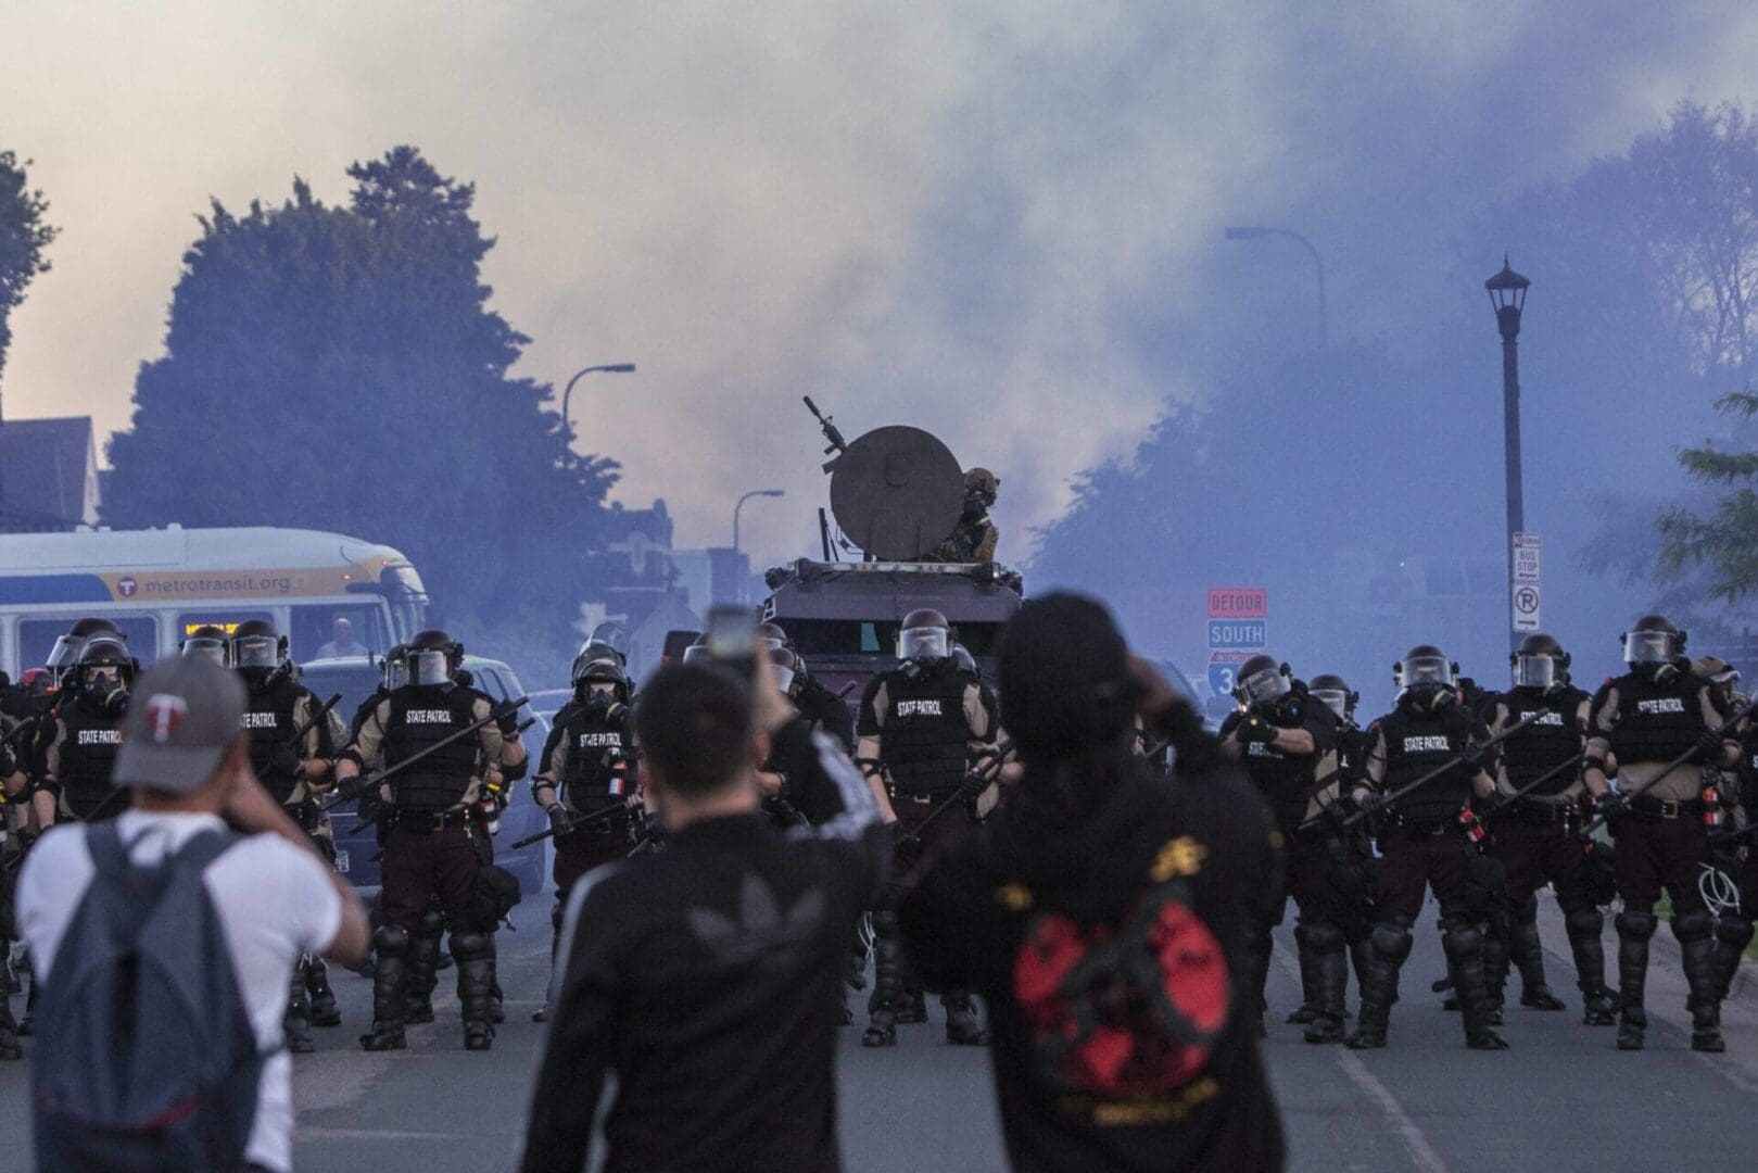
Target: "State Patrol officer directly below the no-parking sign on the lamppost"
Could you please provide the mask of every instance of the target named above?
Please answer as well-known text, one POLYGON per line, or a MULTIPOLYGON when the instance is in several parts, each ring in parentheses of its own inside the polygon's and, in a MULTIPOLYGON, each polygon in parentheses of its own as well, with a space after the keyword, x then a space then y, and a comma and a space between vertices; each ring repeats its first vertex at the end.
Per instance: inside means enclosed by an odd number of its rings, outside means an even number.
POLYGON ((1521 640, 1508 656, 1514 688, 1496 698, 1489 721, 1501 742, 1496 770, 1496 805, 1491 853, 1507 869, 1508 927, 1489 953, 1491 1004, 1501 1004, 1508 962, 1521 971, 1521 1006, 1563 1009, 1544 976, 1544 944, 1538 939, 1538 897, 1544 883, 1556 888, 1563 927, 1575 955, 1575 981, 1586 1002, 1582 1022, 1612 1025, 1616 1006, 1605 988, 1605 916, 1593 902, 1589 869, 1575 839, 1584 784, 1575 761, 1586 747, 1589 696, 1568 677, 1570 656, 1544 631, 1521 640), (1540 783, 1545 776, 1549 781, 1540 783), (1528 790, 1540 783, 1535 790, 1528 790), (1515 791, 1524 791, 1514 798, 1515 791))

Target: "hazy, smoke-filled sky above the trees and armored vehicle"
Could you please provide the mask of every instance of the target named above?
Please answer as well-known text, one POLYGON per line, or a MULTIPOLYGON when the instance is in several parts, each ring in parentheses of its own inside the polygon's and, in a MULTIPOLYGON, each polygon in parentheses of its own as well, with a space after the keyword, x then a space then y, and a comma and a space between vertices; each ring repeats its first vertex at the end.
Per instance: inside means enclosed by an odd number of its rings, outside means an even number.
POLYGON ((1020 535, 1162 396, 1202 394, 1215 355, 1162 336, 1217 283, 1310 281, 1224 223, 1322 248, 1371 223, 1329 257, 1333 334, 1398 332, 1484 200, 1681 97, 1753 95, 1749 4, 1610 7, 0 0, 0 148, 63 229, 5 410, 125 426, 209 197, 299 174, 339 200, 352 160, 413 142, 476 183, 494 304, 534 339, 519 373, 640 364, 575 417, 679 545, 726 543, 733 498, 779 485, 747 547, 810 549, 802 392, 851 438, 911 422, 993 466, 1020 535))

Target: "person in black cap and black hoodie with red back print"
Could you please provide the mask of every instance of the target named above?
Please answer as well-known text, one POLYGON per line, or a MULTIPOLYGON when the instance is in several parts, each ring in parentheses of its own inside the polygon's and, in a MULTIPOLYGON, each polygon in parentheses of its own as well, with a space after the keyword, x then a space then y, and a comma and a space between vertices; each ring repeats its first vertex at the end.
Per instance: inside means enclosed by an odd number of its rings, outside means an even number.
POLYGON ((898 914, 923 980, 990 1006, 1013 1166, 1280 1169, 1250 988, 1276 871, 1257 795, 1092 600, 1020 610, 1000 707, 1023 776, 898 914), (1173 740, 1171 784, 1132 753, 1137 712, 1173 740))

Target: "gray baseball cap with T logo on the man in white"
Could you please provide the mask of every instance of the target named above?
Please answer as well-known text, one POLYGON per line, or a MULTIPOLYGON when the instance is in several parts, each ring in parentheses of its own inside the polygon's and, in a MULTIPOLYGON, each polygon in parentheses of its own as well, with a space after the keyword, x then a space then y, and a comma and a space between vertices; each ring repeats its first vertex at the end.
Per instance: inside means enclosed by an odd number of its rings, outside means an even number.
POLYGON ((244 726, 244 684, 207 659, 162 659, 135 682, 111 781, 200 790, 244 726))

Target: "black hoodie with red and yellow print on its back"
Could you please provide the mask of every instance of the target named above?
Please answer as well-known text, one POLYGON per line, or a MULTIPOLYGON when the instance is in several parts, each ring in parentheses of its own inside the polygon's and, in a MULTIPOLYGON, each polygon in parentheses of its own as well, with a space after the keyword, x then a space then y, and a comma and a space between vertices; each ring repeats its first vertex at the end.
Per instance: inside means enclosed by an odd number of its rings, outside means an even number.
MULTIPOLYGON (((1120 781, 1095 788, 1088 809, 1078 811, 1078 802, 1051 798, 1042 770, 1034 777, 1028 765, 1000 812, 930 862, 905 895, 900 918, 911 962, 930 985, 967 987, 986 999, 1016 1169, 1280 1169, 1282 1124, 1257 1050, 1257 1016, 1227 1013, 1224 1025, 1213 1025, 1222 994, 1231 992, 1231 1009, 1250 999, 1239 988, 1245 934, 1276 867, 1266 812, 1231 770, 1157 781, 1129 760, 1118 772, 1120 781), (1166 980, 1180 1008, 1188 1002, 1174 990, 1206 994, 1206 1055, 1185 1052, 1173 1075, 1162 1067, 1134 1089, 1118 1080, 1071 1082, 1050 1059, 1060 1052, 1057 1032, 1046 1032, 1044 1001, 1025 1006, 1025 987, 1032 974, 1042 976, 1048 941, 1093 957, 1150 892, 1174 893, 1174 904, 1201 922, 1169 913, 1195 934, 1181 937, 1197 943, 1195 955, 1218 943, 1225 958, 1225 974, 1211 964, 1202 976, 1166 980)), ((1151 965, 1157 955, 1132 957, 1151 965)))

